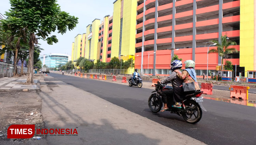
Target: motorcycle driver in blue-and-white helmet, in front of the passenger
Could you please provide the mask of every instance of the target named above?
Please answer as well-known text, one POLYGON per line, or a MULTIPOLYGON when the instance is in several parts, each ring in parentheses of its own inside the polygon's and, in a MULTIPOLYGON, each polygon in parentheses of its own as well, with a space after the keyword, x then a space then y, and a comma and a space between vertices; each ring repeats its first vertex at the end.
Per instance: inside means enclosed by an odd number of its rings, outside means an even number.
MULTIPOLYGON (((171 75, 168 76, 166 79, 161 81, 161 84, 167 84, 167 83, 172 83, 172 87, 176 88, 179 87, 180 85, 182 85, 183 80, 181 80, 178 76, 177 73, 174 70, 177 70, 181 73, 180 69, 182 67, 182 62, 180 60, 174 60, 171 63, 171 75)), ((167 107, 167 103, 168 103, 168 99, 170 102, 173 102, 173 89, 170 90, 166 90, 162 92, 162 101, 163 101, 163 109, 161 110, 161 112, 169 109, 167 107)))

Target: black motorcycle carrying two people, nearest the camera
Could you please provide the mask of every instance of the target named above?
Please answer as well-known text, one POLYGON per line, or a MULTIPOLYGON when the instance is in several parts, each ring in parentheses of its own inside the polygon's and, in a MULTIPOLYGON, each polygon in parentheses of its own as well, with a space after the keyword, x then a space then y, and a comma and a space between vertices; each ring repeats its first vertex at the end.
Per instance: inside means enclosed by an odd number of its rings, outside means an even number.
MULTIPOLYGON (((148 98, 148 107, 152 112, 157 113, 161 110, 163 104, 161 100, 162 91, 170 90, 173 88, 171 86, 160 84, 159 82, 157 82, 155 86, 156 91, 153 91, 153 94, 148 98)), ((182 116, 188 123, 198 123, 202 118, 201 109, 206 111, 202 105, 203 97, 200 97, 202 94, 203 92, 198 90, 193 94, 186 95, 185 98, 181 101, 182 108, 174 108, 172 107, 174 102, 168 102, 167 106, 169 109, 166 111, 170 111, 171 113, 182 116)))

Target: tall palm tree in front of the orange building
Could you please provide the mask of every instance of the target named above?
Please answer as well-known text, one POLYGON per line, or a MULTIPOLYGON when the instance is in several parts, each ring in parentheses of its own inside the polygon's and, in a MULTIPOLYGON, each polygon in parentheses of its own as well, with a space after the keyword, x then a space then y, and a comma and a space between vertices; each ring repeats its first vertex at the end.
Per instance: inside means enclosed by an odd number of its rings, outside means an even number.
POLYGON ((233 47, 229 47, 229 46, 233 46, 233 45, 237 45, 236 42, 234 41, 227 41, 227 35, 221 36, 221 43, 219 43, 216 40, 213 40, 212 42, 217 43, 217 49, 213 48, 209 50, 209 53, 218 53, 219 56, 222 58, 221 60, 221 66, 222 66, 222 70, 223 70, 223 59, 224 57, 227 57, 228 54, 232 54, 234 52, 238 52, 236 48, 233 47))

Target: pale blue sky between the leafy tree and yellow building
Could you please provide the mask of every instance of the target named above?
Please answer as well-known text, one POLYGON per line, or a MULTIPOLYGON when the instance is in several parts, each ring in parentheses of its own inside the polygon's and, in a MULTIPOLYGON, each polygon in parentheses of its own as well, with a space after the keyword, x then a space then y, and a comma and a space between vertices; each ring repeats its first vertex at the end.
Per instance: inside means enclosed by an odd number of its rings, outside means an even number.
MULTIPOLYGON (((113 15, 114 0, 58 0, 61 11, 66 11, 75 17, 79 18, 79 23, 72 31, 67 31, 64 35, 52 33, 56 35, 59 42, 53 45, 48 45, 45 41, 40 40, 39 43, 44 49, 42 54, 63 53, 71 55, 71 45, 74 42, 74 37, 77 34, 86 32, 86 26, 95 18, 103 20, 105 15, 113 15)), ((5 14, 5 11, 10 9, 9 0, 0 1, 0 13, 5 14)), ((5 15, 4 15, 5 16, 5 15)))

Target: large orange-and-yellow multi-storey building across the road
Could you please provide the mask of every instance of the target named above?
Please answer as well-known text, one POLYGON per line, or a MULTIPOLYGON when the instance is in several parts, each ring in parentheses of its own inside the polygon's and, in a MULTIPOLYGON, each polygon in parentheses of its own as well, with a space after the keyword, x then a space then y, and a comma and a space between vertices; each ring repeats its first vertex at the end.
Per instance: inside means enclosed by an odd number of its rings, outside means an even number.
POLYGON ((134 56, 141 73, 168 75, 176 54, 183 62, 194 60, 201 75, 206 74, 207 56, 209 70, 222 60, 217 53, 207 55, 208 45, 203 43, 221 42, 226 35, 237 43, 230 47, 238 53, 227 55, 224 64, 231 61, 242 76, 256 70, 254 0, 116 0, 113 4, 113 16, 87 26, 84 56, 88 59, 109 62, 113 57, 134 56))

